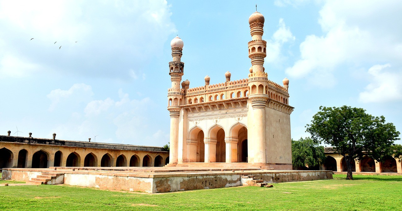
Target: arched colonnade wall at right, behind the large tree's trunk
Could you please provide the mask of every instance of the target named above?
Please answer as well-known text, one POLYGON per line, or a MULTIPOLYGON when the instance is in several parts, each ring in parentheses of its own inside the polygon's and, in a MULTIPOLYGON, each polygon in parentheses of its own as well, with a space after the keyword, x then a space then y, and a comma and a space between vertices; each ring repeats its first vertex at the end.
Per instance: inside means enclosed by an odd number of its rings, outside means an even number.
MULTIPOLYGON (((334 152, 326 152, 327 157, 324 170, 336 172, 346 172, 345 158, 334 152)), ((375 173, 402 173, 402 163, 393 157, 387 158, 384 162, 377 162, 373 158, 364 156, 360 161, 355 160, 352 163, 353 172, 375 172, 375 173)))

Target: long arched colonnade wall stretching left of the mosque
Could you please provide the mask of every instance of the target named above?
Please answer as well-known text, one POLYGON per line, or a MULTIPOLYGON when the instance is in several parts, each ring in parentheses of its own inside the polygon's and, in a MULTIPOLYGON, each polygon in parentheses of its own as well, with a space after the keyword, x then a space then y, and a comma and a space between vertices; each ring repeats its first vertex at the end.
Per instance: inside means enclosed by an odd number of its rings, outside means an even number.
POLYGON ((0 154, 0 168, 151 167, 165 166, 169 160, 169 152, 162 151, 119 150, 4 141, 0 141, 0 154))

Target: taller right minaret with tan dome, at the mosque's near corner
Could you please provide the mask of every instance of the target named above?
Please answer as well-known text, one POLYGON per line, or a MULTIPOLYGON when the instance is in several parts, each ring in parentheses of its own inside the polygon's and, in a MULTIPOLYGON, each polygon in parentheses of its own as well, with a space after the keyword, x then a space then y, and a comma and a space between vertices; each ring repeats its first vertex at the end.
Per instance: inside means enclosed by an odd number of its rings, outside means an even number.
POLYGON ((267 56, 267 41, 263 40, 264 16, 254 12, 248 23, 252 40, 248 42, 248 57, 251 59, 250 73, 248 74, 248 99, 252 109, 248 116, 248 162, 266 163, 266 107, 268 101, 267 85, 268 74, 265 72, 264 58, 267 56))

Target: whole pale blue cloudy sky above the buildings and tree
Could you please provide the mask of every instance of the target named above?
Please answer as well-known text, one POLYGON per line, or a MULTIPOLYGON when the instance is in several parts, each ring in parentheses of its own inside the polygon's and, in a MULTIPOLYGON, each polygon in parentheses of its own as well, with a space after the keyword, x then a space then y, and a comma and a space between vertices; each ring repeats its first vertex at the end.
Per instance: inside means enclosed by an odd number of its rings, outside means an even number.
POLYGON ((361 107, 402 131, 397 0, 70 0, 0 1, 0 133, 166 144, 170 40, 184 41, 190 87, 246 78, 255 4, 268 77, 290 80, 293 139, 321 105, 361 107))

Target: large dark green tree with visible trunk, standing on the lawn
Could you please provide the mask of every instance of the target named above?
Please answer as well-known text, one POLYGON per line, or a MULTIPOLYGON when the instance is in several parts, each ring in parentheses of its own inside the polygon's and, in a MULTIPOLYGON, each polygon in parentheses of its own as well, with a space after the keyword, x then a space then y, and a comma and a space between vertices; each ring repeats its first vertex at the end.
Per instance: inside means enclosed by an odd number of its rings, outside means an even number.
POLYGON ((306 131, 314 141, 332 145, 347 166, 347 179, 353 180, 351 161, 361 160, 363 152, 382 161, 393 154, 392 145, 400 135, 394 124, 385 123, 384 116, 374 117, 361 108, 320 107, 306 131))

